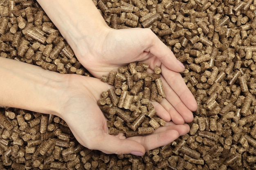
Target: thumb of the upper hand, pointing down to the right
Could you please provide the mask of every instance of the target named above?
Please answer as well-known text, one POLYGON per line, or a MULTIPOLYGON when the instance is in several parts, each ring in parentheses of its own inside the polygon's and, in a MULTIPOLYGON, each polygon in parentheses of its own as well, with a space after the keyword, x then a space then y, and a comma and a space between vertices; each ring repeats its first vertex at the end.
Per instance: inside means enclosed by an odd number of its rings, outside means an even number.
MULTIPOLYGON (((184 71, 184 65, 177 60, 171 49, 168 48, 150 29, 147 38, 151 37, 150 53, 155 55, 168 69, 175 72, 184 71), (150 35, 150 36, 148 36, 150 35)), ((144 30, 146 32, 146 30, 144 30)))

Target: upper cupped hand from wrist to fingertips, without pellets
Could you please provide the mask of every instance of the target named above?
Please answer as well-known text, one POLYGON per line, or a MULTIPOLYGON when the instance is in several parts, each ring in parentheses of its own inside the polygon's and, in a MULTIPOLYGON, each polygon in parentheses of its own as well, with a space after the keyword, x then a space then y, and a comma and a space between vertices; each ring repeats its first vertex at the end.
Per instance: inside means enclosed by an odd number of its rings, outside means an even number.
MULTIPOLYGON (((88 37, 87 37, 88 38, 88 37)), ((180 73, 184 70, 172 51, 150 29, 103 29, 98 36, 89 38, 90 43, 79 41, 74 52, 81 64, 95 77, 124 66, 130 62, 148 63, 152 72, 155 66, 162 69, 162 80, 166 99, 153 105, 159 110, 157 115, 175 124, 191 122, 191 111, 197 109, 195 99, 186 87, 180 73)), ((88 40, 88 39, 87 39, 88 40)))

